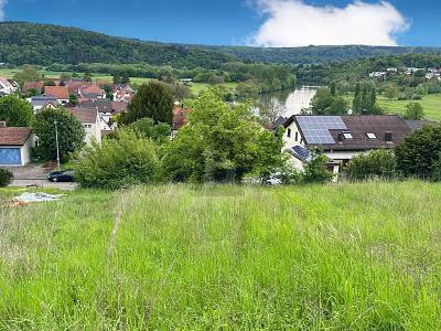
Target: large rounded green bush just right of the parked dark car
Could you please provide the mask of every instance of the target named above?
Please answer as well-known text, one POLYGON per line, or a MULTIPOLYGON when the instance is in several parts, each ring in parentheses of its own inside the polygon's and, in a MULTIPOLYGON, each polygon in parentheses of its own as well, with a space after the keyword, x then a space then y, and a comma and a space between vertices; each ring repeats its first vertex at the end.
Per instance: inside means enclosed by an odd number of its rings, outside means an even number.
POLYGON ((115 139, 104 140, 101 146, 87 147, 75 179, 85 188, 118 190, 154 182, 158 164, 154 143, 125 130, 115 139))

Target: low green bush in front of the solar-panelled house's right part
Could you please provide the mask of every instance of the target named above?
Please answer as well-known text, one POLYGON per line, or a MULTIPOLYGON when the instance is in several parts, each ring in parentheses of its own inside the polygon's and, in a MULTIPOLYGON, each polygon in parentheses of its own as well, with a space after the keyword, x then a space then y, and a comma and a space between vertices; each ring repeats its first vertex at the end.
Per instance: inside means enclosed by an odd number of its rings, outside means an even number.
POLYGON ((367 154, 356 156, 347 164, 347 179, 364 181, 369 179, 391 179, 396 177, 394 151, 373 150, 367 154))

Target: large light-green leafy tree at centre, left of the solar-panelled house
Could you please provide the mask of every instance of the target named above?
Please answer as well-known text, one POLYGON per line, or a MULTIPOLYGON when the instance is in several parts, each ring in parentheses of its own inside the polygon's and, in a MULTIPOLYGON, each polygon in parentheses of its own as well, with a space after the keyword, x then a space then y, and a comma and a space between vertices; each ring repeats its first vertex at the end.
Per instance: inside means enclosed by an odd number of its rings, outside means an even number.
POLYGON ((168 146, 165 175, 173 181, 237 181, 281 166, 282 140, 261 127, 248 104, 230 107, 211 88, 194 103, 187 125, 168 146))

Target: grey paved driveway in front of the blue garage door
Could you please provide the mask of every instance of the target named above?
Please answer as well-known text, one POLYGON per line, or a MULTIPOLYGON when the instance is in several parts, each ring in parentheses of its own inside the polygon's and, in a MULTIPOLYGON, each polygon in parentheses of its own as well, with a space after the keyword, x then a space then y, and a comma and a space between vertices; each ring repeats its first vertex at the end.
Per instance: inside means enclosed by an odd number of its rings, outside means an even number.
POLYGON ((29 164, 25 167, 10 168, 14 175, 12 188, 26 188, 37 185, 40 189, 75 190, 76 183, 52 183, 47 180, 54 169, 43 168, 41 164, 29 164))

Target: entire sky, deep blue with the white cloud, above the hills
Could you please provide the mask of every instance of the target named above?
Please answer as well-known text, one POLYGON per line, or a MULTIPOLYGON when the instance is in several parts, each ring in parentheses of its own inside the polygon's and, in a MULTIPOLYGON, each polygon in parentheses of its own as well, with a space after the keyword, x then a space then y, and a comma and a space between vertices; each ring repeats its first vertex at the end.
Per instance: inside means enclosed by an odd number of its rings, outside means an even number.
POLYGON ((441 46, 438 0, 0 0, 3 20, 198 44, 441 46))

